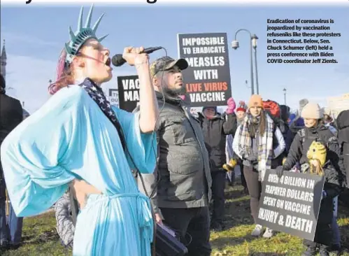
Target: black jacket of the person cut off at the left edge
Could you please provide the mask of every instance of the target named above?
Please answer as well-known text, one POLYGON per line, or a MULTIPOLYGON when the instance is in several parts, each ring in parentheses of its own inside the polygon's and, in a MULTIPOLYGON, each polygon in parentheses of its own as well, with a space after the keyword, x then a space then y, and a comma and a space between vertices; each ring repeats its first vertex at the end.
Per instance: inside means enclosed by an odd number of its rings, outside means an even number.
MULTIPOLYGON (((23 109, 20 101, 9 97, 6 94, 0 94, 0 145, 10 132, 17 127, 23 120, 23 109)), ((5 180, 0 162, 0 199, 6 197, 5 180)))

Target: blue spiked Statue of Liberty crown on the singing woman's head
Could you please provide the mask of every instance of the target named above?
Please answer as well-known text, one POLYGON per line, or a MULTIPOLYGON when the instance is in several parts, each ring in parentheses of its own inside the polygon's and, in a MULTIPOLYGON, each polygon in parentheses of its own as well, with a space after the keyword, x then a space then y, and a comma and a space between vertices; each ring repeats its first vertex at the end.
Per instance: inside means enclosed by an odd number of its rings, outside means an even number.
POLYGON ((99 25, 99 22, 101 22, 102 17, 104 16, 104 13, 99 17, 96 23, 94 23, 94 26, 91 28, 91 18, 92 18, 92 10, 93 10, 93 4, 90 8, 90 12, 87 15, 87 19, 85 22, 85 26, 83 27, 83 6, 80 10, 80 15, 78 19, 78 30, 74 33, 71 29, 71 26, 69 26, 69 35, 70 35, 70 41, 69 43, 65 44, 65 50, 66 50, 66 59, 65 62, 68 64, 72 62, 73 56, 76 56, 78 53, 78 50, 80 50, 81 46, 90 38, 94 38, 97 41, 101 42, 106 36, 102 36, 101 38, 98 38, 96 36, 96 31, 99 25))

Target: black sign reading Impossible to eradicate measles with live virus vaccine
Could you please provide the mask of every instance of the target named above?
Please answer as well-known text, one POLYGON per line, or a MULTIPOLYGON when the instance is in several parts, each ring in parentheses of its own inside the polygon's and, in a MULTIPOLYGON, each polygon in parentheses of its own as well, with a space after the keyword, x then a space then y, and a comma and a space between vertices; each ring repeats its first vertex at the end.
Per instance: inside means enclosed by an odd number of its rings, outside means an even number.
POLYGON ((178 34, 190 106, 224 106, 232 97, 227 33, 178 34))

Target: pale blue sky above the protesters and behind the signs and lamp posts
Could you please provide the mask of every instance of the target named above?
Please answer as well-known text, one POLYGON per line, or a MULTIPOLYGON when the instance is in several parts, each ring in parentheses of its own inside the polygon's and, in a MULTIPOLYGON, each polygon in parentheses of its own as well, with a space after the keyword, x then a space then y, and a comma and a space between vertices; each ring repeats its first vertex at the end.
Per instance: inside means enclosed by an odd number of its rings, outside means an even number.
MULTIPOLYGON (((85 15, 90 8, 85 5, 85 15)), ((6 39, 8 55, 6 82, 8 90, 29 112, 36 111, 48 99, 48 80, 55 79, 57 57, 69 40, 68 27, 76 29, 80 6, 1 5, 1 48, 6 39)), ((95 4, 92 23, 105 12, 97 36, 109 34, 104 45, 111 54, 121 53, 129 45, 145 47, 162 45, 169 55, 178 57, 178 33, 227 32, 232 95, 236 101, 248 101, 250 89, 250 55, 248 34, 238 34, 240 48, 233 50, 237 29, 249 29, 259 37, 257 48, 259 94, 297 108, 299 99, 308 98, 326 106, 327 97, 349 92, 349 6, 106 6, 95 4), (333 19, 332 31, 341 37, 328 38, 339 64, 267 64, 267 19, 333 19)), ((164 55, 160 50, 150 55, 164 55)), ((117 87, 117 76, 133 75, 135 70, 124 65, 114 68, 113 79, 104 89, 117 87)))

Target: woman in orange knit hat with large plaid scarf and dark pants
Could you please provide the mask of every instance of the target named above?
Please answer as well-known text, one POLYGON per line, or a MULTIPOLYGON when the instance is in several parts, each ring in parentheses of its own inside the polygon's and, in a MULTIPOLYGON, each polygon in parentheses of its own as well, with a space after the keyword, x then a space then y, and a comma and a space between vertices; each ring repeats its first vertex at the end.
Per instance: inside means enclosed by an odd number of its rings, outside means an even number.
MULTIPOLYGON (((267 169, 271 169, 271 159, 278 157, 285 150, 285 141, 271 117, 264 111, 262 97, 252 95, 248 103, 248 113, 243 123, 236 129, 233 141, 234 152, 243 160, 250 208, 253 219, 257 220, 258 205, 262 192, 262 181, 267 169), (273 149, 273 138, 278 140, 278 147, 273 149)), ((259 236, 262 226, 256 225, 252 236, 259 236)), ((267 228, 264 237, 273 236, 273 230, 267 228)))

